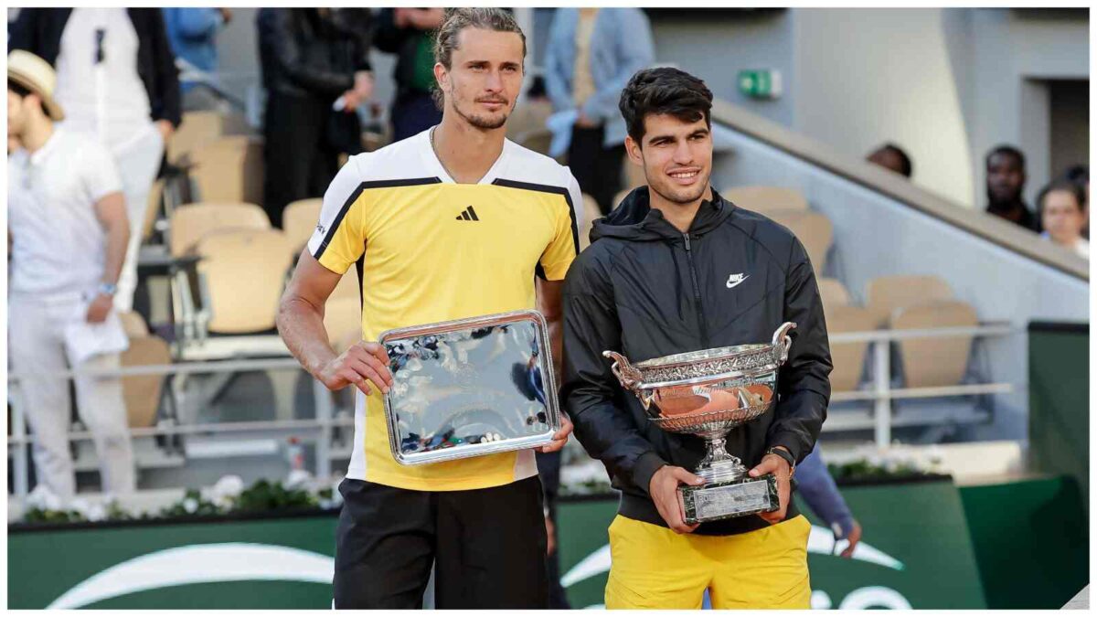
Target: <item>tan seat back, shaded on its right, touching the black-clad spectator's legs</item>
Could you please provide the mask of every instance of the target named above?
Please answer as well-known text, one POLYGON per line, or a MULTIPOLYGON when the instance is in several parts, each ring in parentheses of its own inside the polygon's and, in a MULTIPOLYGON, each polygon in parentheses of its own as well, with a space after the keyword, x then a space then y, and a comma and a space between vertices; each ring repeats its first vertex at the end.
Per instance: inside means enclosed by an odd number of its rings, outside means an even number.
POLYGON ((262 203, 263 147, 253 137, 219 137, 194 148, 188 169, 197 197, 193 201, 262 203))

